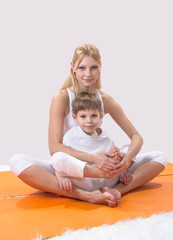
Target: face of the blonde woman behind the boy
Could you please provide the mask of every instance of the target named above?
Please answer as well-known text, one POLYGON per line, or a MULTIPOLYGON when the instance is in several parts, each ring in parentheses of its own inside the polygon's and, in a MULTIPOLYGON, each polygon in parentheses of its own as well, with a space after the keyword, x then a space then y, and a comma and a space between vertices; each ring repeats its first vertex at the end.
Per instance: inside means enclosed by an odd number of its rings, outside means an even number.
POLYGON ((79 86, 93 86, 99 77, 100 67, 100 63, 94 58, 87 55, 84 56, 77 69, 74 66, 74 72, 79 86))

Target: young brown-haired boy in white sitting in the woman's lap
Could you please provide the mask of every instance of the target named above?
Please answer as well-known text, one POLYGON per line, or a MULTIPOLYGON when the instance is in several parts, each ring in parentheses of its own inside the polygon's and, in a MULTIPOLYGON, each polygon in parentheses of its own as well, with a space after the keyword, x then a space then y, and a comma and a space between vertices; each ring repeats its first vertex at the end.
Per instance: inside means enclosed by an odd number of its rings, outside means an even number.
MULTIPOLYGON (((78 124, 65 133, 63 144, 83 152, 110 151, 115 164, 121 161, 118 147, 107 133, 99 128, 102 119, 101 101, 95 94, 80 93, 72 102, 73 119, 78 124)), ((63 190, 71 192, 73 184, 86 191, 114 187, 118 181, 128 184, 132 175, 125 171, 113 176, 98 169, 94 164, 81 161, 63 152, 55 153, 51 164, 63 190), (98 176, 98 178, 94 178, 98 176)))

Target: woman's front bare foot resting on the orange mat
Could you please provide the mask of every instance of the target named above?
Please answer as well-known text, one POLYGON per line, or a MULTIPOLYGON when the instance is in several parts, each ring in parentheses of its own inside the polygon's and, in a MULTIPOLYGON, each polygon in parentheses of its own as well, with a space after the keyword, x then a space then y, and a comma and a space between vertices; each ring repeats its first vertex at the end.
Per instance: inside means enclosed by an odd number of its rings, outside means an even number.
POLYGON ((99 190, 91 192, 91 198, 88 200, 88 202, 106 204, 109 207, 115 207, 117 204, 117 201, 115 201, 115 197, 112 193, 107 191, 101 192, 99 190))

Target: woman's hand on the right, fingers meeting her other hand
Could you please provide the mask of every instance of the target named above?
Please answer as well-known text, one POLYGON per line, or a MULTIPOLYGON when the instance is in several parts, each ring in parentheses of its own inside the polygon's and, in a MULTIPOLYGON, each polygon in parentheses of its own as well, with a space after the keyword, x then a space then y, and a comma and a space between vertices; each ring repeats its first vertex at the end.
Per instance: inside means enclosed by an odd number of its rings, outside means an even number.
POLYGON ((114 170, 111 171, 112 175, 116 175, 118 173, 121 173, 124 170, 127 170, 131 167, 133 161, 126 157, 125 153, 120 153, 122 160, 120 163, 114 165, 114 170))

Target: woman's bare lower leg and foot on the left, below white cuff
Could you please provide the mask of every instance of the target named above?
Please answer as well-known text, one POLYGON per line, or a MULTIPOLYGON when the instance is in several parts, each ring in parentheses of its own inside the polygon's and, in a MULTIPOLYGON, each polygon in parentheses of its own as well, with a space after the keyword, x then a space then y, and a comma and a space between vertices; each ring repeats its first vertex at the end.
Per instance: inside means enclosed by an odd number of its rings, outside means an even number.
POLYGON ((25 169, 20 173, 19 178, 29 186, 44 192, 51 192, 90 203, 105 204, 109 207, 116 206, 115 196, 110 192, 101 192, 99 190, 88 192, 80 188, 74 188, 73 192, 70 193, 63 191, 58 184, 57 177, 37 165, 25 169))

